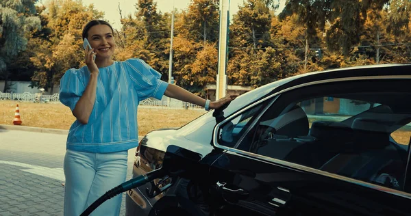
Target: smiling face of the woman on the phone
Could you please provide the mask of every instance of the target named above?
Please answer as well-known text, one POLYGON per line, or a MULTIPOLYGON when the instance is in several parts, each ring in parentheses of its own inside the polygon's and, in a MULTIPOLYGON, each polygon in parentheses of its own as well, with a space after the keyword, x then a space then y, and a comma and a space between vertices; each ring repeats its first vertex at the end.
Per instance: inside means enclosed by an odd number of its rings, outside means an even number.
POLYGON ((95 49, 96 58, 111 58, 116 44, 112 29, 108 25, 95 25, 88 30, 88 42, 95 49))

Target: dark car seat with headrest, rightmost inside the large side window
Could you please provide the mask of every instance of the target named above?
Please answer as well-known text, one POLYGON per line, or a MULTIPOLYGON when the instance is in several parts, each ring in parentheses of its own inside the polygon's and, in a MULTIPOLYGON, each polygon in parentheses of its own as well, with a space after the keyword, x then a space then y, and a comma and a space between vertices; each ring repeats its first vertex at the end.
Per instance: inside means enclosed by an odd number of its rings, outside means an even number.
POLYGON ((401 157, 397 148, 390 145, 390 135, 384 122, 372 118, 357 118, 351 129, 351 145, 341 149, 319 169, 366 182, 388 184, 392 188, 401 187, 401 173, 387 169, 390 164, 398 164, 401 157))

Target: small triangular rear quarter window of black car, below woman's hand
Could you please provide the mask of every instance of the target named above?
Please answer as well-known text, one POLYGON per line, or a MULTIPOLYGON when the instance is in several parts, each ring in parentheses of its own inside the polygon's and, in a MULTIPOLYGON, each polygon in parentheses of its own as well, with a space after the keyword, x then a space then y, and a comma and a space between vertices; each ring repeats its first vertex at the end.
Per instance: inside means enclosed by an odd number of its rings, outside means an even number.
POLYGON ((238 114, 238 116, 234 117, 232 120, 225 122, 219 128, 219 144, 230 148, 234 147, 240 137, 249 128, 252 120, 258 116, 258 112, 262 109, 262 105, 263 104, 251 107, 247 111, 238 114))

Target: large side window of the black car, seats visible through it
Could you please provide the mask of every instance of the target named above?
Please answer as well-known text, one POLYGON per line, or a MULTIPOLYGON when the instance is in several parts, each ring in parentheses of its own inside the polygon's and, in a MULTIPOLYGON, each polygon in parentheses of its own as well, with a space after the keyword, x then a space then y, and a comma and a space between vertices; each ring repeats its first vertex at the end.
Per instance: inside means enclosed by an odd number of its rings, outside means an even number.
POLYGON ((407 96, 318 96, 281 110, 273 103, 237 148, 402 190, 411 114, 399 101, 407 96))

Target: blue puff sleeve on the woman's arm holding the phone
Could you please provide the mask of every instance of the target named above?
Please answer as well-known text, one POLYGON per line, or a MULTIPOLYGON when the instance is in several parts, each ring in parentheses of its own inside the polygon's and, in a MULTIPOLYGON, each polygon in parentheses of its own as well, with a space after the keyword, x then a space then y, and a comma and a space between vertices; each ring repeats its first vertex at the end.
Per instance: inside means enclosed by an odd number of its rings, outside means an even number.
POLYGON ((64 73, 60 80, 60 102, 70 107, 71 111, 74 110, 75 105, 86 90, 83 77, 82 70, 71 68, 64 73))

